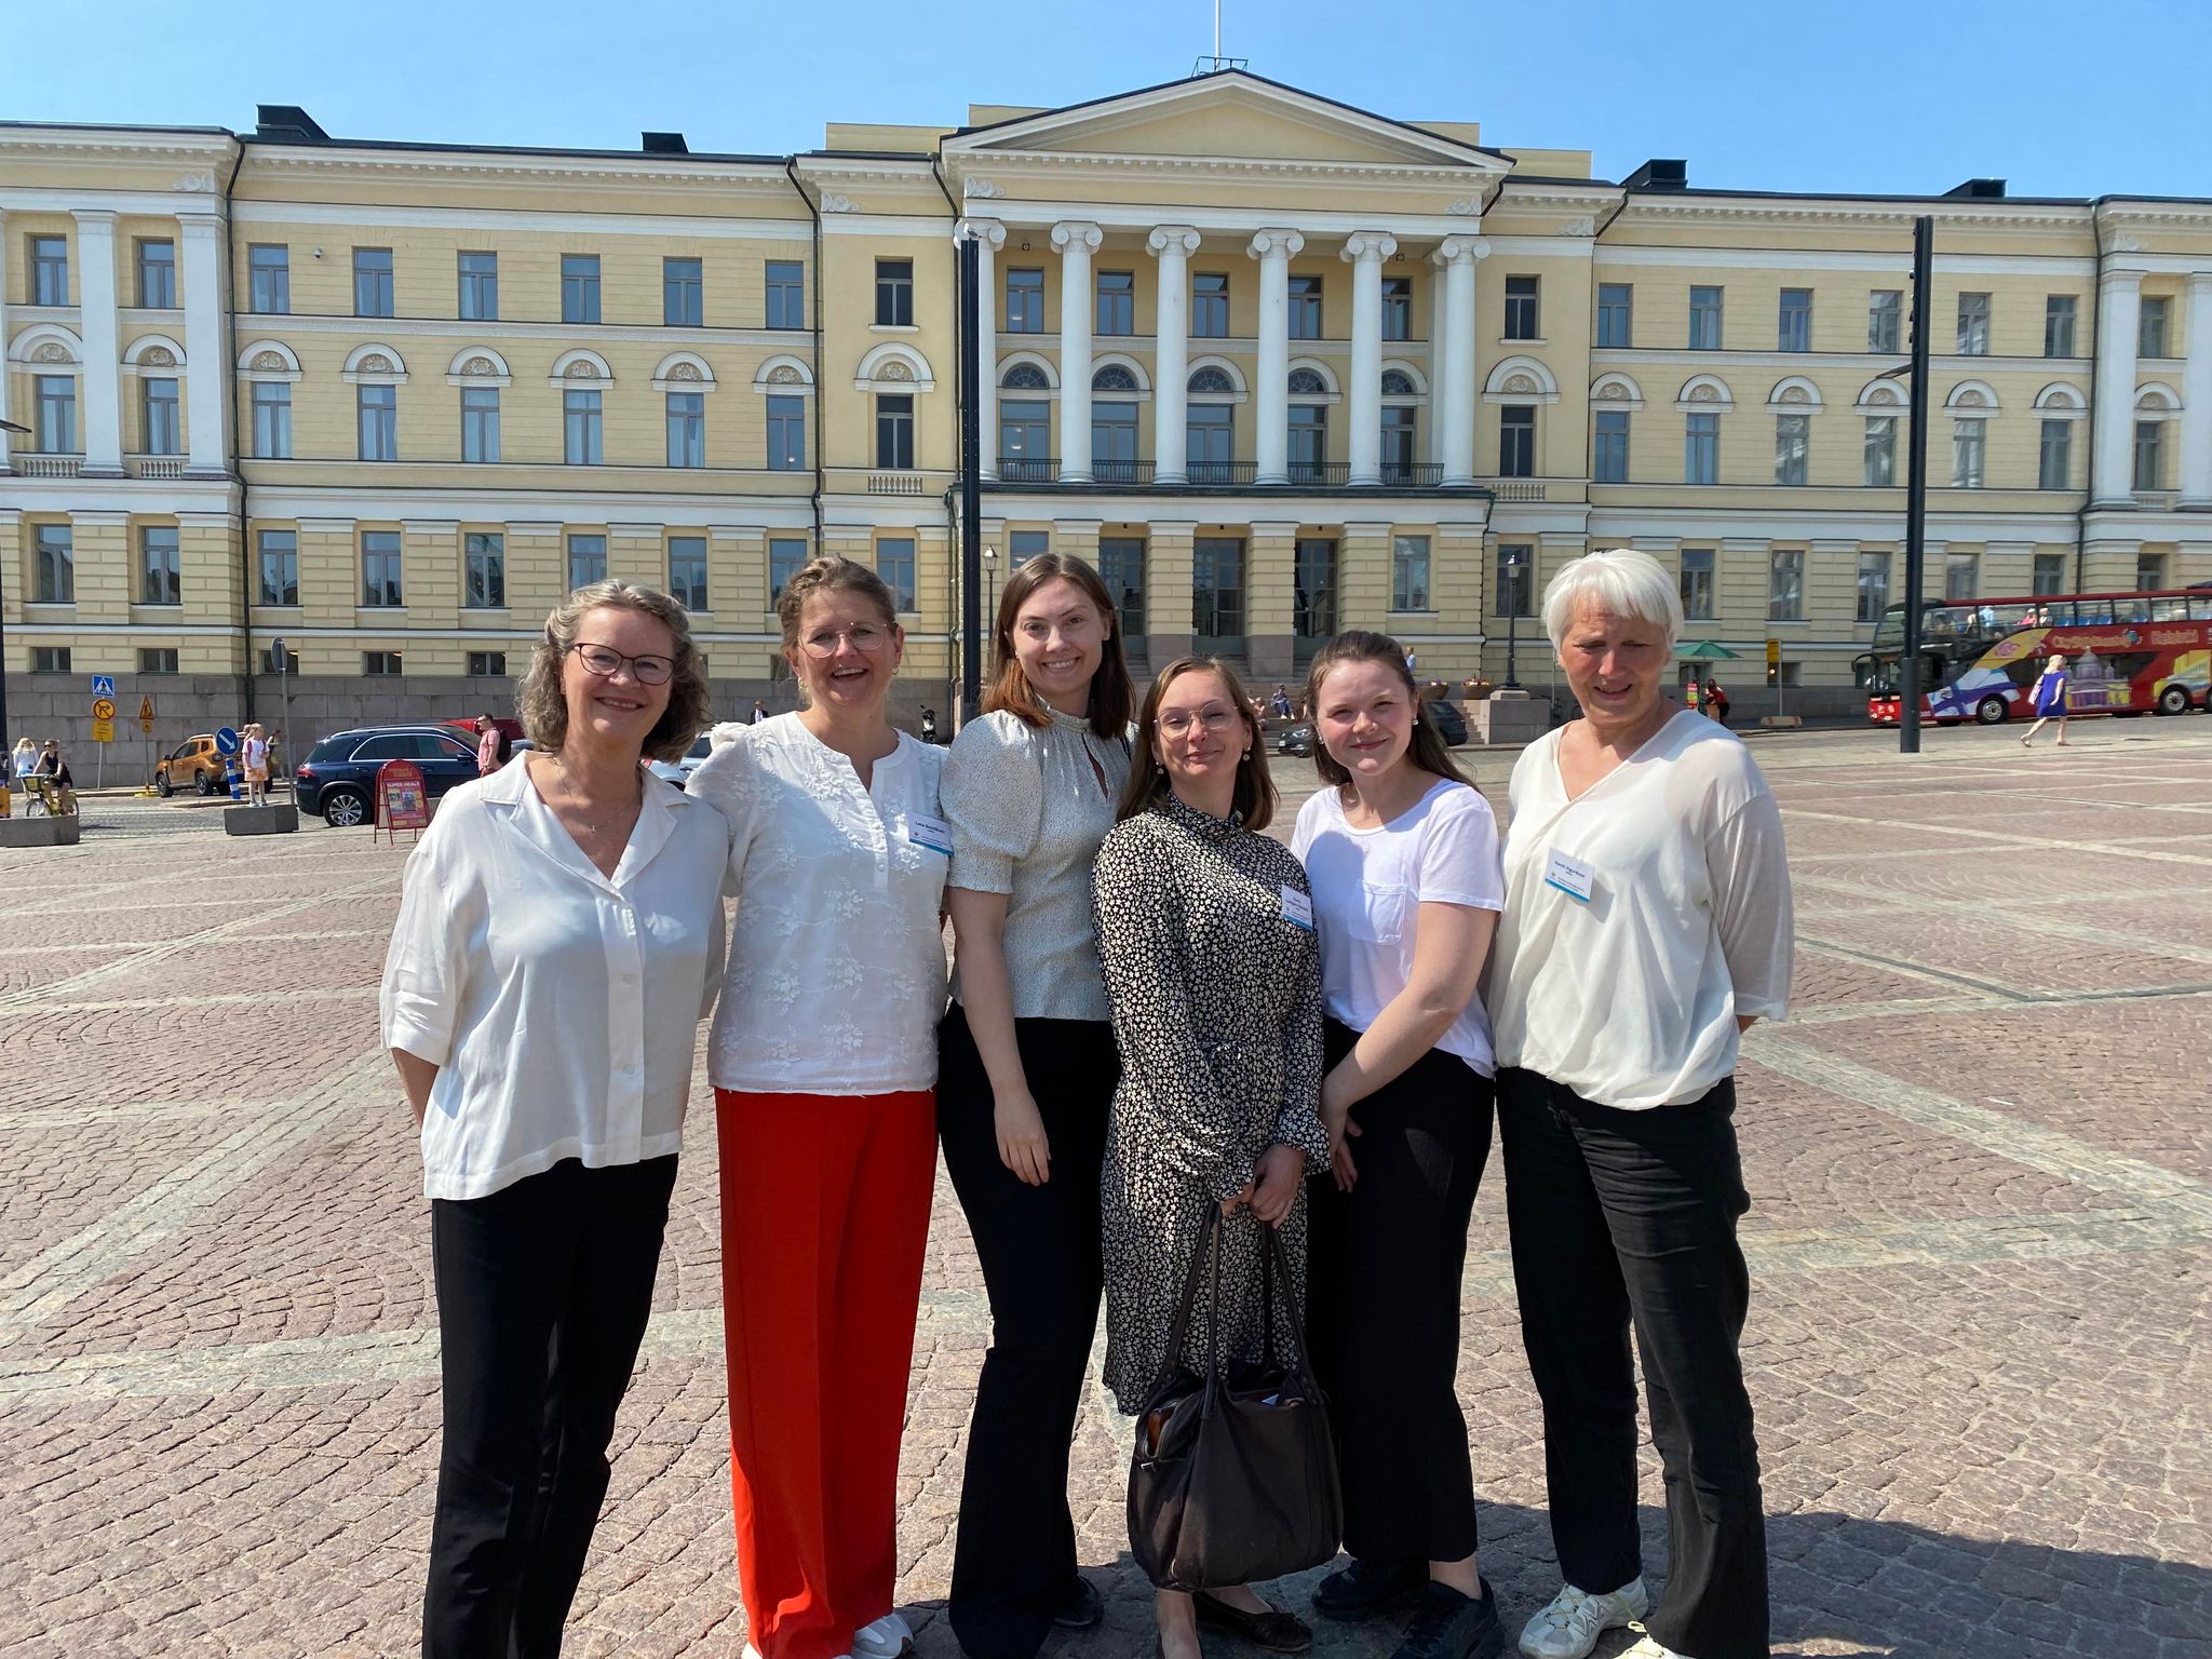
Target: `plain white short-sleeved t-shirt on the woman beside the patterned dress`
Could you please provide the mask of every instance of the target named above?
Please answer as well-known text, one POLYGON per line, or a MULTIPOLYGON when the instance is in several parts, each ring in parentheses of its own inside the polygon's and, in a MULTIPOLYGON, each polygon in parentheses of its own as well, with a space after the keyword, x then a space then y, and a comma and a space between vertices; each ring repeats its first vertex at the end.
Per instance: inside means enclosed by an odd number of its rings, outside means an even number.
MULTIPOLYGON (((1491 803, 1453 779, 1438 779, 1374 830, 1345 823, 1336 790, 1323 790, 1298 807, 1290 849, 1314 889, 1323 1006, 1354 1031, 1367 1031, 1413 975, 1422 905, 1504 907, 1491 803)), ((1469 998, 1436 1046, 1491 1075, 1491 1018, 1480 995, 1469 998)))

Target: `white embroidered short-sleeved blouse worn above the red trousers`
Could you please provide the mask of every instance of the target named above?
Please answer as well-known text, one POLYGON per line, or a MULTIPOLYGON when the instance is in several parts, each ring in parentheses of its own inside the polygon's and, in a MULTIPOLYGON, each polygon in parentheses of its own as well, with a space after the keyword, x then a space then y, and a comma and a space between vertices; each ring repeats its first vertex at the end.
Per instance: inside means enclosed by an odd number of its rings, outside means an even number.
POLYGON ((752 1095, 898 1095, 938 1082, 945 750, 900 732, 863 790, 799 714, 712 732, 692 799, 730 825, 730 971, 708 1073, 752 1095))

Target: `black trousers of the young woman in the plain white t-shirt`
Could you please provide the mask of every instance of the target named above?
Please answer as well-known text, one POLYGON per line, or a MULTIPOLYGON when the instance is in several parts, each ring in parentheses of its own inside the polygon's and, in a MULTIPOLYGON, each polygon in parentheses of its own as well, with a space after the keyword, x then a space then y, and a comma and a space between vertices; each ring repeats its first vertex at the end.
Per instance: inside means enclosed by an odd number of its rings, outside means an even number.
MULTIPOLYGON (((1323 1029, 1334 1066, 1358 1033, 1323 1029)), ((1305 1329, 1329 1396, 1345 1548, 1369 1562, 1475 1551, 1460 1411, 1460 1279, 1491 1155, 1491 1079, 1431 1048, 1352 1108, 1358 1181, 1305 1183, 1305 1329)))

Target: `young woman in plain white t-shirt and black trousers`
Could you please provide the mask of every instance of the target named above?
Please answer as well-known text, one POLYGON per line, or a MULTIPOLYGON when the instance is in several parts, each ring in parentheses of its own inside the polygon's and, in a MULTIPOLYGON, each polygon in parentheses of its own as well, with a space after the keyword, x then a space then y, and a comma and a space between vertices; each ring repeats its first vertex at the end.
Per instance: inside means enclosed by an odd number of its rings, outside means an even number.
POLYGON ((1460 1272, 1491 1152, 1489 1015, 1475 995, 1504 905, 1498 825, 1422 710, 1398 641, 1332 639, 1307 679, 1298 812, 1321 933, 1332 1168, 1312 1179, 1307 1323, 1334 1400, 1352 1564, 1334 1619, 1418 1601, 1398 1659, 1502 1648, 1475 1568, 1475 1489, 1453 1389, 1460 1272))

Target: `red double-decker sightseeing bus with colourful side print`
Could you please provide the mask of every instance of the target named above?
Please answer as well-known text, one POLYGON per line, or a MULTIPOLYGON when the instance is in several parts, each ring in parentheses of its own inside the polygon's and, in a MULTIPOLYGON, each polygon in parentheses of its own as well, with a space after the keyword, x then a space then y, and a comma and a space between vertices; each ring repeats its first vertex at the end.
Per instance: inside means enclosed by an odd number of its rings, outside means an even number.
MULTIPOLYGON (((1929 599, 1920 606, 1920 719, 1997 726, 2033 717, 2035 677, 2066 659, 2068 714, 2185 714, 2212 690, 2212 586, 1929 599)), ((1902 719, 1905 606, 1856 668, 1876 726, 1902 719)))

